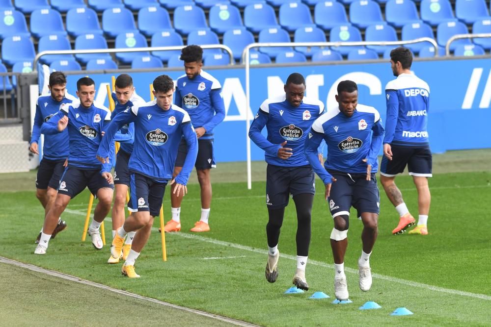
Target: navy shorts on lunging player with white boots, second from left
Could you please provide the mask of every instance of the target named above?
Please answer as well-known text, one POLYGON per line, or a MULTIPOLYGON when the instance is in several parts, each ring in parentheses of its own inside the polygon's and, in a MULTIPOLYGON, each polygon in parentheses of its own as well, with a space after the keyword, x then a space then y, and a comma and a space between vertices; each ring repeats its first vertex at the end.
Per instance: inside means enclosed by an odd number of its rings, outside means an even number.
POLYGON ((85 187, 89 188, 90 193, 94 196, 103 187, 114 189, 114 185, 109 184, 106 178, 101 175, 101 171, 83 170, 76 167, 68 166, 60 178, 58 187, 59 194, 69 195, 70 198, 75 198, 85 187))

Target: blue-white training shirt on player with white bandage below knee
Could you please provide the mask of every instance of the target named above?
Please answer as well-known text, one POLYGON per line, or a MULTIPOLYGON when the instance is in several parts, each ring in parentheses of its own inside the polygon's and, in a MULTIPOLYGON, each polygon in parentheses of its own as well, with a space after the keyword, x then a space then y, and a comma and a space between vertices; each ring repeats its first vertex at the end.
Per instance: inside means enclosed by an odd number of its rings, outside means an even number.
POLYGON ((374 107, 357 104, 353 116, 343 114, 339 107, 328 111, 312 124, 305 141, 305 152, 312 168, 324 184, 331 183, 327 170, 348 174, 366 174, 367 165, 376 173, 379 166, 377 154, 382 147, 384 130, 380 113, 374 107), (327 160, 322 167, 317 157, 317 147, 327 144, 327 160), (363 159, 367 162, 363 162, 363 159))

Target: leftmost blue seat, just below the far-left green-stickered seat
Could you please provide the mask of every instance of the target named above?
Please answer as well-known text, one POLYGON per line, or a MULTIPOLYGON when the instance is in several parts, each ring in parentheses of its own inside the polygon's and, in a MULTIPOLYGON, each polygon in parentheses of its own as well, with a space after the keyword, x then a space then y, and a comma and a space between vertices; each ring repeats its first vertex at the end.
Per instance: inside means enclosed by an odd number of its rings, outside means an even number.
POLYGON ((34 44, 25 36, 8 36, 1 44, 1 58, 5 65, 13 66, 18 61, 33 61, 36 56, 34 44))

